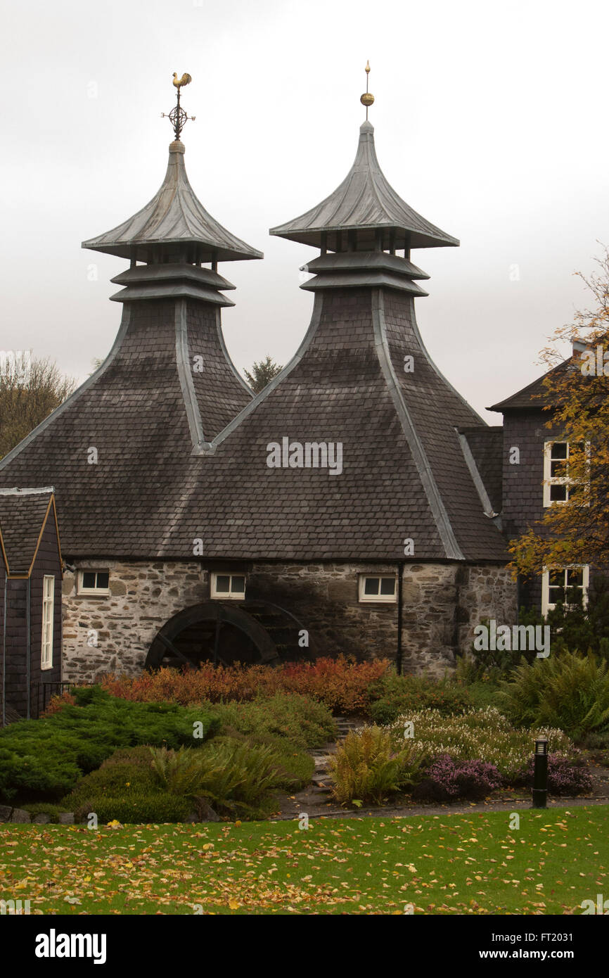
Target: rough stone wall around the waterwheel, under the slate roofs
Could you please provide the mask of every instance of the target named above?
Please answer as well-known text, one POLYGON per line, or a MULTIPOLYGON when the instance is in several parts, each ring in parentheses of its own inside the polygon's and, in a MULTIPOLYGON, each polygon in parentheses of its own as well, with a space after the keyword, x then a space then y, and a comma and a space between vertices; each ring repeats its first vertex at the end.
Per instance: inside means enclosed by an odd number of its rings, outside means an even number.
MULTIPOLYGON (((96 559, 79 561, 78 567, 108 569, 110 595, 78 596, 75 575, 65 572, 67 681, 91 682, 108 672, 136 675, 165 622, 209 600, 204 561, 201 567, 195 561, 96 559)), ((308 630, 311 654, 395 659, 397 603, 358 600, 360 574, 395 573, 395 564, 253 562, 245 572, 246 599, 287 609, 308 630)), ((403 596, 407 672, 441 675, 454 665, 457 649, 470 647, 482 618, 515 621, 515 587, 502 566, 408 563, 403 596)))

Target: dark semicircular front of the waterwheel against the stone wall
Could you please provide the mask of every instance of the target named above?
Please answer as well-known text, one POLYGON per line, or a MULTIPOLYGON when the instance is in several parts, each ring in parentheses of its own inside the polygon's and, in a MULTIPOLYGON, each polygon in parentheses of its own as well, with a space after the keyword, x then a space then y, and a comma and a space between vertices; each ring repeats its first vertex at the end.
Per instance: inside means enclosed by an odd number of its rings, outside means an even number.
POLYGON ((272 664, 280 661, 280 655, 267 630, 242 607, 205 601, 165 622, 152 641, 145 668, 237 661, 272 664))

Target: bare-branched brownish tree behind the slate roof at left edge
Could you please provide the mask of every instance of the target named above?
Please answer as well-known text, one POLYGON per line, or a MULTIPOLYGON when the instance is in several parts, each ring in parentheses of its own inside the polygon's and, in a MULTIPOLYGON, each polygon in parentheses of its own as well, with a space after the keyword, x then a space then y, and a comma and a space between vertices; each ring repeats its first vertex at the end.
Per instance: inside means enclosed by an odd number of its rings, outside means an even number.
POLYGON ((48 357, 5 354, 0 361, 0 458, 59 407, 75 385, 48 357))

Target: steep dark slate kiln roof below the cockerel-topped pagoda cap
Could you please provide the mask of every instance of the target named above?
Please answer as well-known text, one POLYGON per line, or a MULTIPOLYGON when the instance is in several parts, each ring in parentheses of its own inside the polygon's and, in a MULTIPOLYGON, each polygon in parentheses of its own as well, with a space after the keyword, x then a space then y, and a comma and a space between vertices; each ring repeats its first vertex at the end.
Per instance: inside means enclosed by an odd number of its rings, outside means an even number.
POLYGON ((32 484, 34 471, 53 481, 66 556, 167 553, 194 461, 191 409, 210 439, 251 401, 226 355, 216 309, 194 300, 187 325, 202 366, 188 375, 190 391, 177 361, 176 301, 125 303, 101 368, 0 462, 0 485, 32 484))

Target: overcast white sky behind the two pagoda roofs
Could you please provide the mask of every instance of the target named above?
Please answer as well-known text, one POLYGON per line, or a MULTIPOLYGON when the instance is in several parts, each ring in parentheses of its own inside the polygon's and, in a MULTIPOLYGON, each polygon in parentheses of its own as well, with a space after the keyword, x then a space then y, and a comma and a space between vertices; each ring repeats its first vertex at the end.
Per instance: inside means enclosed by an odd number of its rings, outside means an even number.
MULTIPOLYGON (((268 229, 326 197, 370 121, 395 190, 459 248, 419 249, 423 338, 478 411, 542 372, 545 337, 587 303, 609 243, 604 0, 28 0, 3 2, 0 348, 79 379, 103 357, 120 259, 80 243, 139 210, 164 176, 171 75, 189 71, 183 133, 196 195, 264 261, 220 271, 239 370, 285 363, 315 250, 268 229), (94 96, 94 97, 92 97, 94 96), (97 282, 87 269, 97 263, 97 282), (510 277, 518 266, 519 278, 510 277)), ((499 415, 485 414, 491 423, 499 415)))

